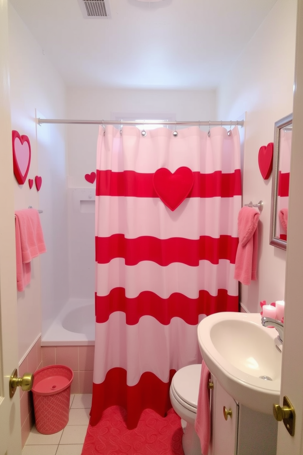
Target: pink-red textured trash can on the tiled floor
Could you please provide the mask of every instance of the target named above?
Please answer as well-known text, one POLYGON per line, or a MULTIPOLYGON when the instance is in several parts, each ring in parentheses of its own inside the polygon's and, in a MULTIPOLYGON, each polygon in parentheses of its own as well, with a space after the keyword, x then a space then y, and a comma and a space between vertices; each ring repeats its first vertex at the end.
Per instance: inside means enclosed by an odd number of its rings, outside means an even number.
POLYGON ((36 428, 43 435, 57 433, 67 425, 73 377, 73 371, 65 365, 50 365, 34 373, 36 428))

